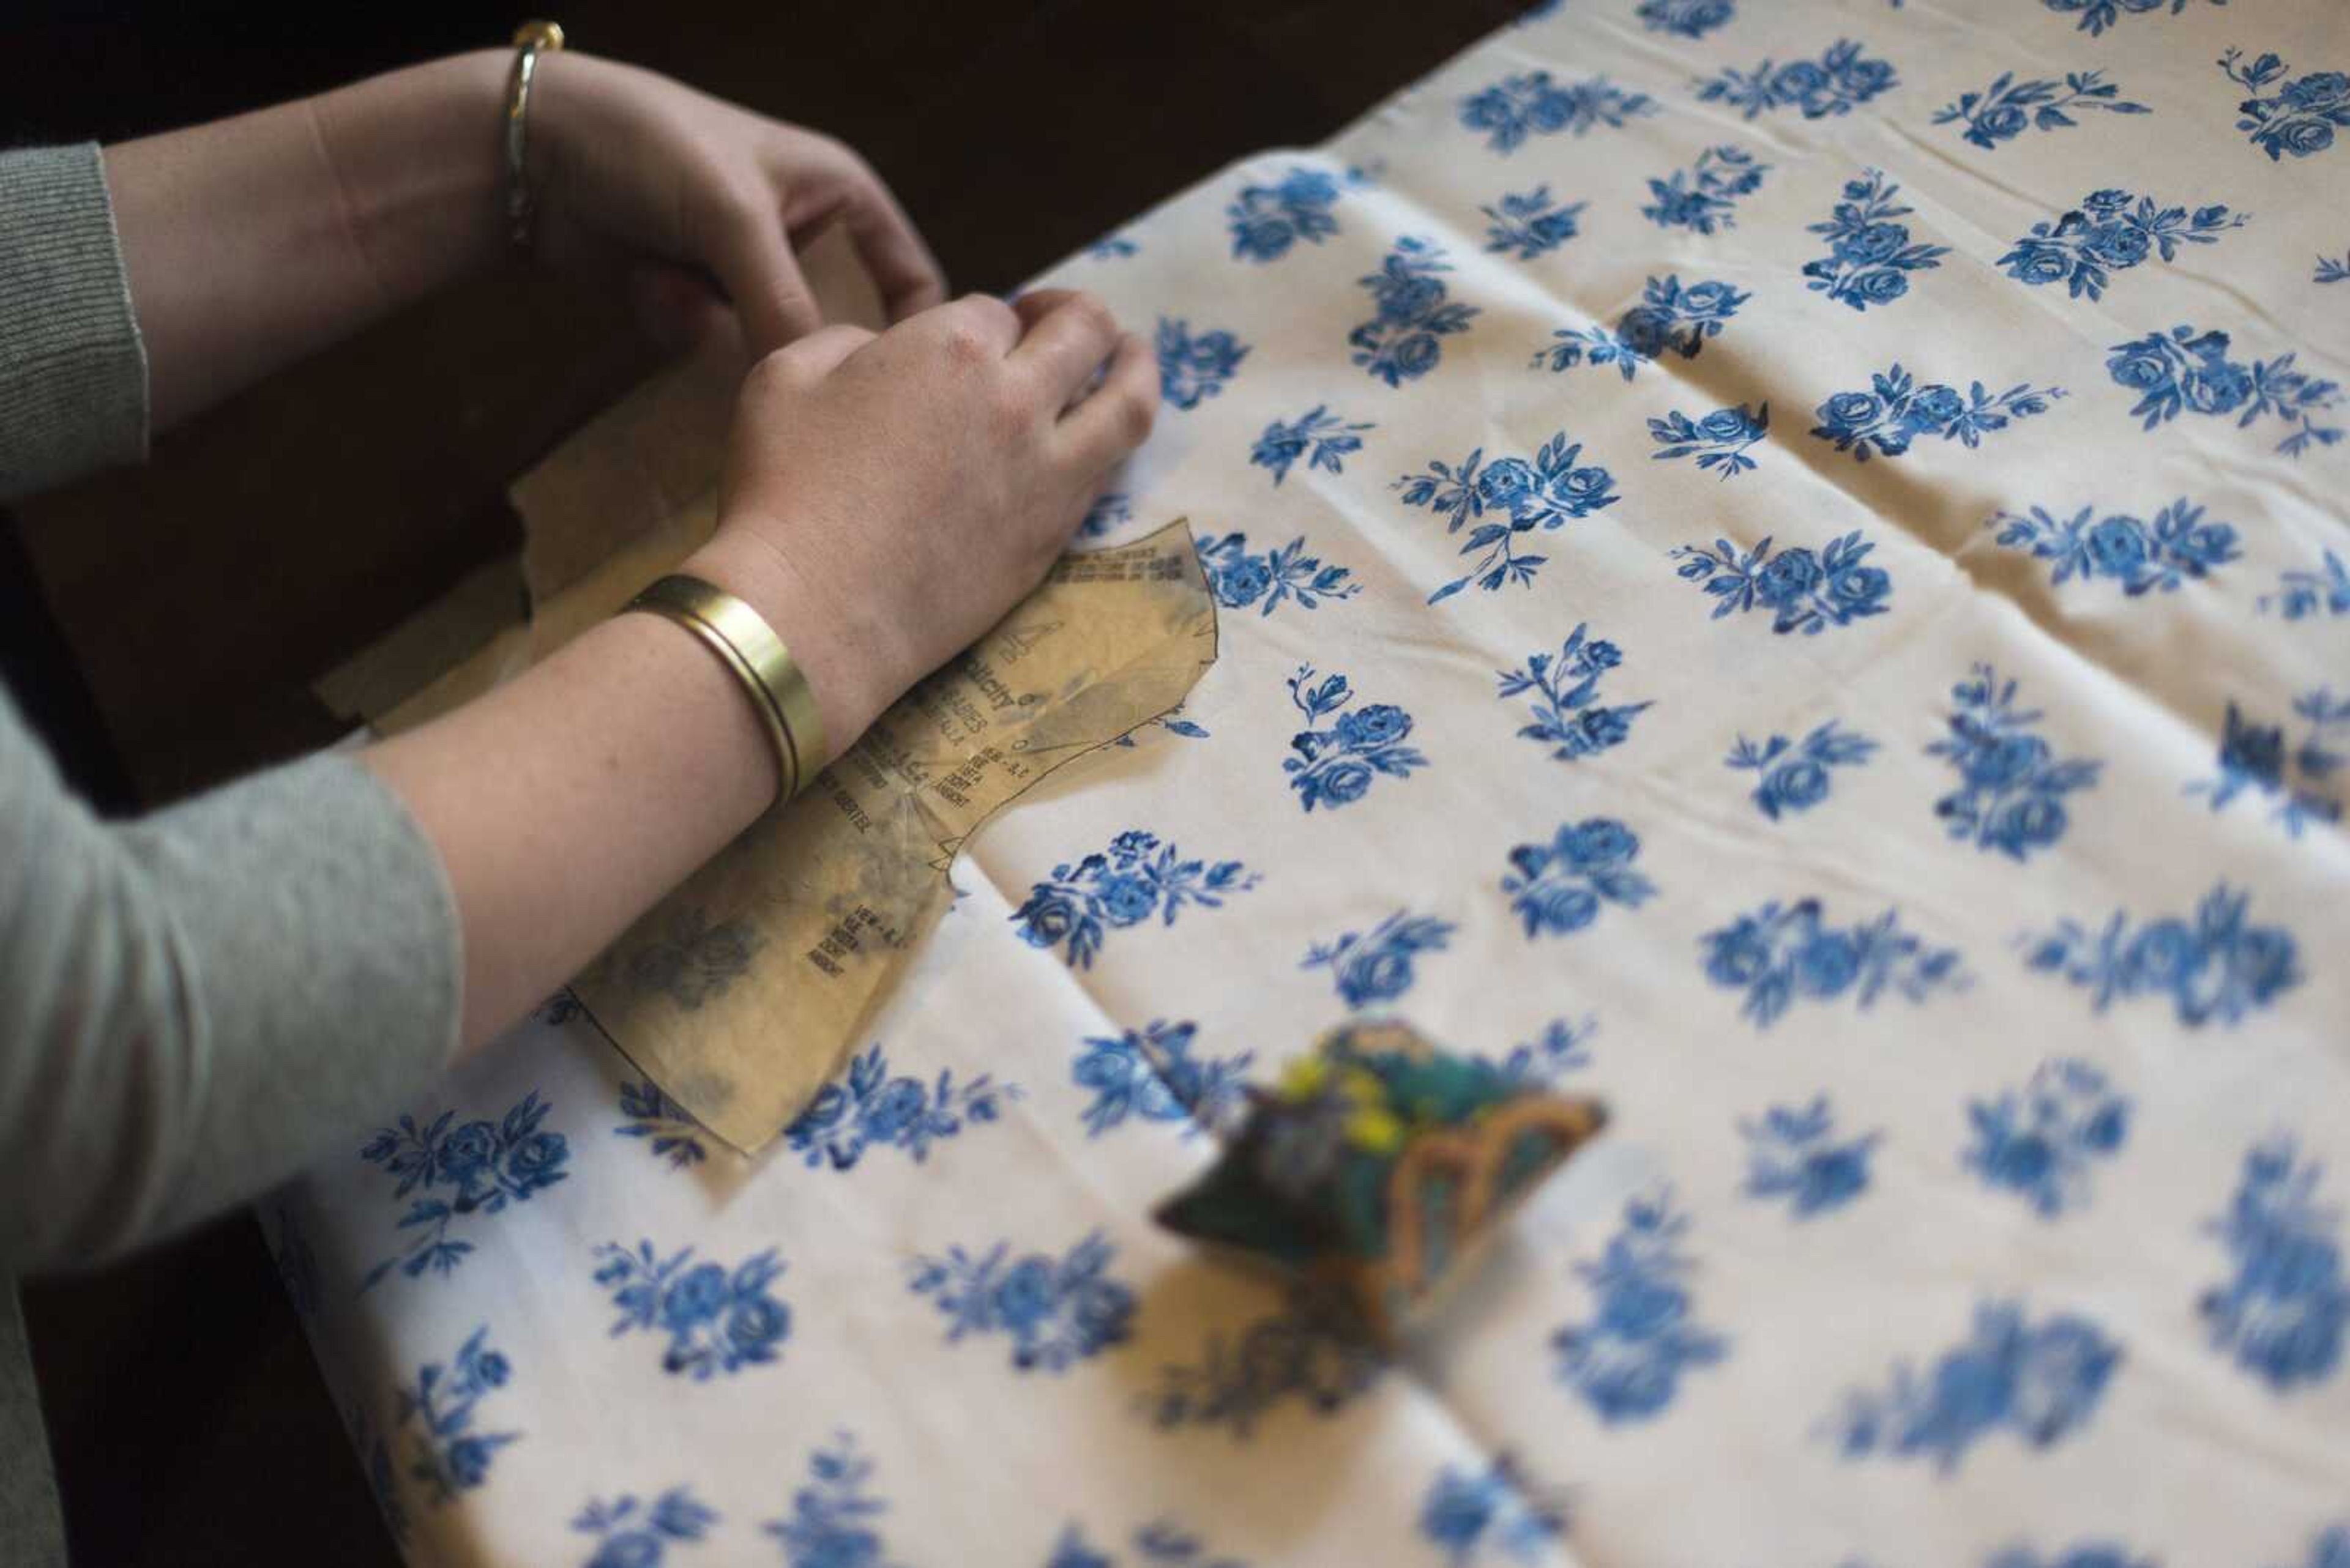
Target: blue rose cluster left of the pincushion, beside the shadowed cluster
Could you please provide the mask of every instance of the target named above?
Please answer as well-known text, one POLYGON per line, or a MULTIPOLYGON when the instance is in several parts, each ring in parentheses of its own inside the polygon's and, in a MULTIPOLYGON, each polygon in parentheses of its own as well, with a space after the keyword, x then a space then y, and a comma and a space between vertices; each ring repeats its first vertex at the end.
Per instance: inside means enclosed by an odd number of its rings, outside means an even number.
POLYGON ((1109 1276, 1114 1255, 1100 1232, 1062 1258, 1015 1258, 1010 1241, 982 1255, 949 1246, 945 1258, 916 1258, 907 1284, 947 1314, 949 1345, 966 1333, 1001 1333, 1013 1345, 1015 1371, 1060 1373, 1133 1333, 1135 1293, 1109 1276))

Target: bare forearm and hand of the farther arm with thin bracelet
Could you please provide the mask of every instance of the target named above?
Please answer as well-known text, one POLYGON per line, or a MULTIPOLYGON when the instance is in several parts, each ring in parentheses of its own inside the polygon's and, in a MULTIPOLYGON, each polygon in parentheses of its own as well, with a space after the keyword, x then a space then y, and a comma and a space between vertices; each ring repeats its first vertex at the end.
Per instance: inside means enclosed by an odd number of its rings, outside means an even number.
MULTIPOLYGON (((157 430, 508 256, 512 63, 475 49, 106 148, 157 430)), ((721 299, 752 353, 813 331, 792 247, 834 221, 893 317, 945 299, 888 188, 839 141, 588 54, 543 54, 538 73, 533 242, 644 263, 660 336, 698 336, 721 299)))

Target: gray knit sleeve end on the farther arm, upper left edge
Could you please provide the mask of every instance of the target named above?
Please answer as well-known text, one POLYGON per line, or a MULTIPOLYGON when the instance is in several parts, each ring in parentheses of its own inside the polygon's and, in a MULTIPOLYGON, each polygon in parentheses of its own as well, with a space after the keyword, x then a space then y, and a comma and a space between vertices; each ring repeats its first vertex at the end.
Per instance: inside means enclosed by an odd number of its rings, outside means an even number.
POLYGON ((146 444, 146 343, 99 146, 0 153, 0 501, 146 444))

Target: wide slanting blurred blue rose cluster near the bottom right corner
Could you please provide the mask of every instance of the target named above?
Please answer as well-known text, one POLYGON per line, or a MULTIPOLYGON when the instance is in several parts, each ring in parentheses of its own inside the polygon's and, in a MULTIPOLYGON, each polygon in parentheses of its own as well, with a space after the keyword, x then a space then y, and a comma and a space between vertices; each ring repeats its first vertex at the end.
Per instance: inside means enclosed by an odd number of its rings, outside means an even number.
POLYGON ((1847 1460, 1929 1458, 1950 1472, 1998 1432, 2028 1448, 2073 1436, 2120 1366, 2122 1347, 2082 1314, 2033 1324, 2023 1302, 1983 1302, 1967 1340, 1925 1373, 1899 1363, 1885 1389, 1854 1389, 1828 1432, 1847 1460))

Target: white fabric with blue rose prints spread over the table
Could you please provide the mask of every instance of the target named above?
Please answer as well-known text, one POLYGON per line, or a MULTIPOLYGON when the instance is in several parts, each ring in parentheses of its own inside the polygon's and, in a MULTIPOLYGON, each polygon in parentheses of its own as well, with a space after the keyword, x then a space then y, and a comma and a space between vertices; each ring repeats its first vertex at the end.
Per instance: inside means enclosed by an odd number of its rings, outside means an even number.
POLYGON ((2345 212, 2331 0, 1553 0, 1072 256, 1217 665, 759 1159, 268 1204, 409 1556, 2350 1568, 2345 212), (1152 1222, 1349 1018, 1610 1112, 1398 1361, 1152 1222))

